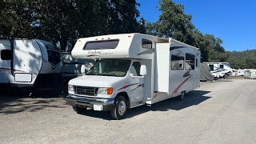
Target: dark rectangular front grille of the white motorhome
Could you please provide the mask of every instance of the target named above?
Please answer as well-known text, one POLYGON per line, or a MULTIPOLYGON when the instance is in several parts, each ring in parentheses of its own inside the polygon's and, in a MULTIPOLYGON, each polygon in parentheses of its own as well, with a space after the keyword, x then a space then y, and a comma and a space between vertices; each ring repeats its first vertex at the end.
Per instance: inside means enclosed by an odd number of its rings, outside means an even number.
POLYGON ((98 88, 86 86, 74 86, 74 94, 96 96, 98 88))

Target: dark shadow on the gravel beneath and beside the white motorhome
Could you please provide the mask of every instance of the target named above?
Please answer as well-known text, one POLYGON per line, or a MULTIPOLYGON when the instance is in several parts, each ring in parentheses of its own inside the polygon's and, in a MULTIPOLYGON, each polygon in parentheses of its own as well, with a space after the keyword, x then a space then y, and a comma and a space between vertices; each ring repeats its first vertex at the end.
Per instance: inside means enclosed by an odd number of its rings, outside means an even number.
MULTIPOLYGON (((170 98, 162 102, 155 103, 152 106, 138 106, 133 109, 128 110, 126 118, 132 118, 138 114, 143 114, 148 111, 168 111, 168 110, 182 110, 186 109, 190 106, 196 106, 201 102, 206 101, 211 98, 206 96, 206 94, 210 93, 210 91, 203 90, 194 90, 189 94, 186 94, 186 97, 183 101, 179 101, 178 98, 170 98)), ((110 116, 110 112, 100 112, 94 110, 85 110, 82 115, 102 118, 106 120, 112 120, 110 116)))

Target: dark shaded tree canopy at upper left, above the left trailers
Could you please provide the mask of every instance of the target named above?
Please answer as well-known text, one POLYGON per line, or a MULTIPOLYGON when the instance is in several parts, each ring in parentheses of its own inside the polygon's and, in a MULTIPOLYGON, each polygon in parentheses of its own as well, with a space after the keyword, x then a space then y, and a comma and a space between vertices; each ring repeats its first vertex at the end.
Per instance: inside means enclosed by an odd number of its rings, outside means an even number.
POLYGON ((145 33, 136 0, 0 0, 0 35, 60 42, 102 34, 145 33))

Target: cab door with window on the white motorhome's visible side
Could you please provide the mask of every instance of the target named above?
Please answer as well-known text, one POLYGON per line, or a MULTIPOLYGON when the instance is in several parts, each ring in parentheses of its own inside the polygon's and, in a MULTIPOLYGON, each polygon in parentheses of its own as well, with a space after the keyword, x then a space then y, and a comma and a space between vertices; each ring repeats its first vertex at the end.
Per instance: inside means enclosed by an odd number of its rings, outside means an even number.
POLYGON ((144 92, 143 92, 143 84, 144 77, 140 75, 140 62, 133 62, 130 67, 130 105, 134 106, 142 102, 144 92))

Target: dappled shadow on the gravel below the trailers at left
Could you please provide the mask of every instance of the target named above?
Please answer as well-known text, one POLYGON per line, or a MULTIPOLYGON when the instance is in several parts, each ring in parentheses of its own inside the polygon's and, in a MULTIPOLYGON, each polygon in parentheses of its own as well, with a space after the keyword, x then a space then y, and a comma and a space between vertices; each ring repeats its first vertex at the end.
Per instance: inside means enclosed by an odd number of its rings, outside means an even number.
POLYGON ((38 94, 40 98, 30 98, 26 91, 1 90, 0 114, 17 114, 21 112, 36 112, 47 108, 64 108, 65 101, 51 93, 38 94))

